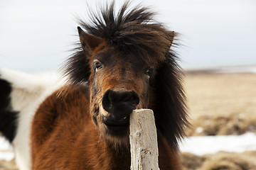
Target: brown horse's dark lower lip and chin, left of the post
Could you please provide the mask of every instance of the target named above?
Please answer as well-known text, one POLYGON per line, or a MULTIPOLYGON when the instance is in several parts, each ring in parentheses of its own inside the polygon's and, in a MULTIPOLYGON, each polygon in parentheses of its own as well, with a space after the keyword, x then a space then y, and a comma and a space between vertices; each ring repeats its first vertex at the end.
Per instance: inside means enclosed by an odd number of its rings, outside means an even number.
POLYGON ((129 115, 123 120, 104 117, 103 123, 107 126, 107 132, 111 135, 124 135, 129 130, 129 115))

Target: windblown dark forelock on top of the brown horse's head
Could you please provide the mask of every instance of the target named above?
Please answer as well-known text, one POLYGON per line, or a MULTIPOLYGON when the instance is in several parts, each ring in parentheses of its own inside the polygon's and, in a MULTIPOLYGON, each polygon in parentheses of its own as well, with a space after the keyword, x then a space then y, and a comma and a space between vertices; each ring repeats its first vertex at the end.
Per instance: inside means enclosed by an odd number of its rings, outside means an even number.
POLYGON ((142 60, 157 62, 165 60, 171 45, 170 31, 154 21, 155 13, 150 8, 130 8, 125 2, 115 13, 114 2, 101 11, 90 13, 90 22, 79 21, 91 35, 104 39, 117 50, 141 57, 142 60))

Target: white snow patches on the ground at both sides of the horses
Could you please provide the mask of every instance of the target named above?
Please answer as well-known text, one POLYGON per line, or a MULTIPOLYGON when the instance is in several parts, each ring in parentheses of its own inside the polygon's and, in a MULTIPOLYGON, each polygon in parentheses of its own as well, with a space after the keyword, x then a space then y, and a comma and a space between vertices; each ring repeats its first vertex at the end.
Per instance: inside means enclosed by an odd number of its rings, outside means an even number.
MULTIPOLYGON (((214 154, 219 151, 245 152, 256 150, 256 135, 247 132, 244 135, 188 137, 180 143, 181 152, 196 155, 214 154)), ((0 137, 0 159, 14 158, 9 142, 0 137)))

